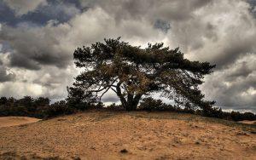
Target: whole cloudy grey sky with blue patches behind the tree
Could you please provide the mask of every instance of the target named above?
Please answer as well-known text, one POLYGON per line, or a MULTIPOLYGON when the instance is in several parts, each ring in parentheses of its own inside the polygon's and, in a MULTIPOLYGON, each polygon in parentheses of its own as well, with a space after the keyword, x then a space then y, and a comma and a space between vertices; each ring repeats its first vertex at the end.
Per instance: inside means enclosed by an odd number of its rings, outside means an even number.
POLYGON ((0 0, 0 96, 65 99, 74 49, 105 37, 216 64, 206 100, 256 112, 256 0, 0 0))

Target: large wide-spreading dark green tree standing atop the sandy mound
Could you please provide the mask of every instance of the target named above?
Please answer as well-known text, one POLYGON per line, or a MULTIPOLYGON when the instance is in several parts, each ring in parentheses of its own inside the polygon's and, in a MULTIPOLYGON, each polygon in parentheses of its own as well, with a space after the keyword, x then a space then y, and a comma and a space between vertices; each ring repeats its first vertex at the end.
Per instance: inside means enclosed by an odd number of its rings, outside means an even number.
POLYGON ((83 68, 75 83, 67 88, 69 100, 96 100, 113 90, 125 110, 137 109, 143 95, 161 93, 179 105, 211 107, 198 89, 202 78, 215 66, 184 59, 179 49, 163 43, 148 43, 146 49, 117 39, 104 39, 73 53, 74 63, 83 68))

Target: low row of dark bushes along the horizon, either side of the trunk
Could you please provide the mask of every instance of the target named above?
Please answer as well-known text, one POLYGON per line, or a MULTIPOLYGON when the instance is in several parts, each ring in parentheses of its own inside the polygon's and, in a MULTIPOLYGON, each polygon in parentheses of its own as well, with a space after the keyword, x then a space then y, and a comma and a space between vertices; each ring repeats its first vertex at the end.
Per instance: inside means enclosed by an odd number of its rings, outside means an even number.
MULTIPOLYGON (((122 105, 115 103, 104 106, 102 103, 97 104, 80 104, 73 105, 66 100, 57 101, 49 104, 49 98, 39 97, 33 99, 30 96, 25 96, 22 99, 16 100, 15 98, 0 98, 0 117, 4 116, 26 116, 38 118, 50 118, 61 115, 73 114, 79 111, 108 110, 108 111, 125 111, 122 105)), ((180 106, 172 106, 165 104, 161 100, 154 100, 151 97, 144 98, 137 111, 175 111, 183 113, 191 113, 205 117, 218 117, 226 120, 242 121, 242 120, 256 120, 256 114, 251 112, 240 113, 239 111, 225 112, 219 108, 212 108, 210 111, 191 110, 189 108, 182 108, 180 106)))

